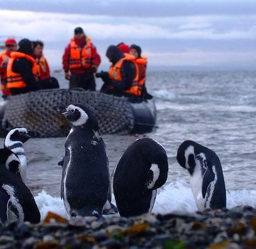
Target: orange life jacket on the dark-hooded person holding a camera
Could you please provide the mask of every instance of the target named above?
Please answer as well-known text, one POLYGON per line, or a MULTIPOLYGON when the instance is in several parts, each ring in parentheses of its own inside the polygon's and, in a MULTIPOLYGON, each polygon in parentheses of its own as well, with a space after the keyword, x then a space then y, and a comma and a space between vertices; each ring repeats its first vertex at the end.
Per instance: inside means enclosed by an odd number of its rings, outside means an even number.
MULTIPOLYGON (((124 54, 124 55, 125 55, 125 57, 123 57, 119 61, 117 61, 114 66, 112 65, 110 67, 108 75, 111 80, 122 81, 121 67, 122 67, 122 64, 124 61, 131 61, 134 63, 135 57, 133 55, 131 55, 131 54, 124 54)), ((138 83, 138 67, 135 63, 134 63, 134 65, 135 65, 136 72, 135 72, 135 77, 132 82, 132 86, 130 89, 123 90, 123 91, 127 94, 134 94, 136 96, 140 96, 142 87, 138 83)))

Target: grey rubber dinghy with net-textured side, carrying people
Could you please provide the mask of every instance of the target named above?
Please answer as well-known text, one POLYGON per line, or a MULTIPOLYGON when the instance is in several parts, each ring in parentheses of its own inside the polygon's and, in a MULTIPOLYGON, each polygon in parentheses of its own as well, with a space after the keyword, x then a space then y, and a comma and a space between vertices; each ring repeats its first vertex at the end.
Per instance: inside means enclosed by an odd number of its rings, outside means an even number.
POLYGON ((82 89, 47 89, 11 96, 0 103, 2 131, 26 127, 41 137, 67 136, 69 123, 53 106, 72 103, 87 105, 99 122, 101 134, 147 133, 156 121, 154 99, 135 101, 82 89))

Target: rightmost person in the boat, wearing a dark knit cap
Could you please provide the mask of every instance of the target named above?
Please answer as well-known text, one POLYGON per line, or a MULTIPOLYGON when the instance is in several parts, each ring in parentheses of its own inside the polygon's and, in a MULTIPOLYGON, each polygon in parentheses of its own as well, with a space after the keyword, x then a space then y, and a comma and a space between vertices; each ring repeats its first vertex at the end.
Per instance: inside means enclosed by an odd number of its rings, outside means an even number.
POLYGON ((147 68, 147 59, 145 57, 141 57, 141 47, 132 44, 130 46, 130 53, 135 57, 135 63, 138 68, 138 82, 142 86, 141 96, 146 99, 151 99, 152 95, 147 93, 147 88, 145 86, 146 81, 146 68, 147 68))

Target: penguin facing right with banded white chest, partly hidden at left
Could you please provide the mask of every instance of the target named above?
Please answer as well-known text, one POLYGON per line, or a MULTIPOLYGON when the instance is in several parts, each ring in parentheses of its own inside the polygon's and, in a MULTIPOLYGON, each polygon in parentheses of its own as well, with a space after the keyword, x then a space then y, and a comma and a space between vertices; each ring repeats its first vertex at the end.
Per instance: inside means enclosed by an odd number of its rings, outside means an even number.
POLYGON ((40 134, 37 131, 28 131, 26 128, 17 127, 10 130, 5 138, 4 147, 10 149, 20 159, 20 175, 23 182, 26 182, 27 180, 27 158, 23 148, 23 143, 25 143, 29 138, 39 135, 40 134))

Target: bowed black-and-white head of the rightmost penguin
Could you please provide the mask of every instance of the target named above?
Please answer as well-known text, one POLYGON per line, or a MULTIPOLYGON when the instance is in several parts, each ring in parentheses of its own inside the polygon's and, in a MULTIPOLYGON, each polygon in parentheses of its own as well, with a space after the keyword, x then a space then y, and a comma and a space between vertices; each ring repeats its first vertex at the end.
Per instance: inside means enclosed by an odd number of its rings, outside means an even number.
POLYGON ((193 175, 195 168, 195 146, 194 141, 184 141, 177 151, 176 159, 178 163, 189 170, 190 175, 193 175))

